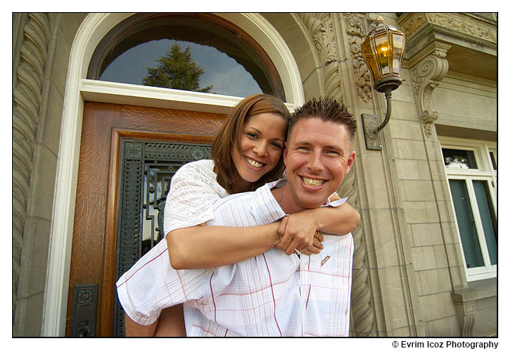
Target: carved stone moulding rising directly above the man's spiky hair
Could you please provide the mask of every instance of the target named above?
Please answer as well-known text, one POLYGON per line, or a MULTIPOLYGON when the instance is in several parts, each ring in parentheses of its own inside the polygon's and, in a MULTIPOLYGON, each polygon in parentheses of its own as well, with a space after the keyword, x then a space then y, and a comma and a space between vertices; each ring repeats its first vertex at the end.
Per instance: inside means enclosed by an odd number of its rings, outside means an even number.
POLYGON ((325 95, 342 103, 341 75, 331 14, 297 14, 312 37, 325 78, 325 95))

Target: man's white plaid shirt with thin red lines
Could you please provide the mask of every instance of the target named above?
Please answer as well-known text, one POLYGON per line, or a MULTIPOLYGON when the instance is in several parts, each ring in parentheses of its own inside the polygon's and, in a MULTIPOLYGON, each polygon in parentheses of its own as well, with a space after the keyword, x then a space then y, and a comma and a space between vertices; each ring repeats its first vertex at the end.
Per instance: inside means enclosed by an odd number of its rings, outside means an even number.
MULTIPOLYGON (((258 226, 282 218, 270 189, 283 182, 219 199, 207 224, 258 226)), ((117 293, 142 325, 184 303, 188 336, 347 336, 352 235, 325 235, 324 246, 312 256, 272 248, 228 266, 176 271, 163 240, 117 281, 117 293)))

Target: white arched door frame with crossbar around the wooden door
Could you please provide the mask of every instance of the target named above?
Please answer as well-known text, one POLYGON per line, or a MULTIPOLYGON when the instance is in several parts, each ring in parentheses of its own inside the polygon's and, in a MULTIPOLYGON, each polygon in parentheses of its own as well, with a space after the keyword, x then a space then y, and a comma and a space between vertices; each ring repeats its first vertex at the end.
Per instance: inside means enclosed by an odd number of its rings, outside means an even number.
MULTIPOLYGON (((78 28, 71 46, 60 127, 41 336, 65 335, 84 101, 226 113, 242 100, 224 95, 85 79, 90 58, 102 37, 131 15, 88 14, 78 28)), ((288 108, 293 110, 302 105, 304 95, 300 73, 293 54, 278 31, 260 14, 217 15, 243 28, 265 49, 283 81, 288 108)))

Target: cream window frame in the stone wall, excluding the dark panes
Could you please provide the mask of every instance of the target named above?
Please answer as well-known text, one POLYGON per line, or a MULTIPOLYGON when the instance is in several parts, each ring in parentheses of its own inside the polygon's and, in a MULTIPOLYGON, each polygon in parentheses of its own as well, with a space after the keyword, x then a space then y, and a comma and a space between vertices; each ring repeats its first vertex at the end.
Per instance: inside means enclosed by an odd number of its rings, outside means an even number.
MULTIPOLYGON (((490 254, 488 246, 486 244, 486 238, 483 229, 483 222, 480 218, 480 211, 478 208, 478 202, 475 197, 475 190, 473 181, 485 181, 488 183, 488 189, 490 189, 490 201, 492 209, 495 213, 495 219, 497 220, 497 170, 493 169, 492 161, 490 159, 490 152, 494 152, 495 162, 497 162, 497 143, 482 141, 482 140, 470 140, 461 139, 455 137, 438 137, 442 149, 454 149, 454 150, 468 150, 474 152, 475 162, 478 165, 478 169, 449 169, 445 167, 443 163, 443 152, 441 151, 441 162, 443 164, 444 172, 446 172, 446 179, 449 187, 449 199, 451 200, 451 208, 453 214, 455 214, 454 201, 451 194, 451 185, 449 184, 450 179, 464 180, 467 188, 470 209, 472 210, 475 229, 478 233, 478 242, 480 245, 481 254, 485 266, 468 268, 465 261, 465 253, 463 248, 463 242, 461 241, 460 230, 458 226, 458 219, 454 216, 456 224, 456 232, 458 234, 458 241, 462 251, 463 265, 465 266, 465 275, 467 281, 478 281, 482 279, 495 278, 497 276, 497 264, 492 265, 490 263, 490 254)), ((497 164, 498 168, 498 164, 497 164)), ((498 246, 498 243, 497 243, 498 246)), ((498 253, 497 253, 498 255, 498 253)))

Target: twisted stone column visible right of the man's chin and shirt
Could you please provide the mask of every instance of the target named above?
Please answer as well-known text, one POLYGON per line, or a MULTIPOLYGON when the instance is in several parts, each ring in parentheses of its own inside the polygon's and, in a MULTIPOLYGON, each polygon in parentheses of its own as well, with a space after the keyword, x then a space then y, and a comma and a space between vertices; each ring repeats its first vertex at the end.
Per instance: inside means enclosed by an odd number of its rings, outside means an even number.
MULTIPOLYGON (((357 208, 357 191, 355 187, 355 170, 344 177, 339 187, 341 197, 349 197, 349 204, 357 208)), ((359 337, 375 336, 374 315, 371 305, 371 290, 369 290, 369 277, 365 264, 365 245, 362 241, 362 225, 352 232, 354 241, 353 269, 352 269, 352 317, 354 328, 352 335, 359 337)))

